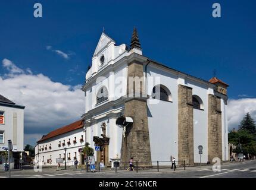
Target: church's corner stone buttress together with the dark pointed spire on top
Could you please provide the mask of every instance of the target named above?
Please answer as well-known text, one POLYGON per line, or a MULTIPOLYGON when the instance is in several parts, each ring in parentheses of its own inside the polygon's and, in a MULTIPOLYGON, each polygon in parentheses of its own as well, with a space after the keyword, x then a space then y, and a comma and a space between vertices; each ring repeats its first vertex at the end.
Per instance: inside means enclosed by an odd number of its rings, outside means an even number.
MULTIPOLYGON (((133 30, 132 40, 128 58, 127 78, 143 78, 143 64, 146 59, 141 59, 141 44, 139 42, 136 28, 133 30)), ((140 166, 151 166, 151 151, 148 130, 148 113, 146 106, 147 96, 145 95, 145 82, 141 81, 139 87, 135 81, 127 80, 127 97, 124 104, 124 116, 133 119, 132 126, 126 129, 123 135, 121 146, 121 164, 126 167, 131 157, 139 163, 140 166), (139 94, 139 96, 138 96, 139 94)))

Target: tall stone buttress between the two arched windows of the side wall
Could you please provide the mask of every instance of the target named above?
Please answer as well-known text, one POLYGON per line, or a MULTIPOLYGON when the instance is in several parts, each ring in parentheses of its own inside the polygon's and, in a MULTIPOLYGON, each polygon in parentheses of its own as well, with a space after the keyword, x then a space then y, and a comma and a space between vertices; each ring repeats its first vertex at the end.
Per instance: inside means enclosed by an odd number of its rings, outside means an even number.
POLYGON ((192 88, 178 85, 178 160, 193 166, 192 88))

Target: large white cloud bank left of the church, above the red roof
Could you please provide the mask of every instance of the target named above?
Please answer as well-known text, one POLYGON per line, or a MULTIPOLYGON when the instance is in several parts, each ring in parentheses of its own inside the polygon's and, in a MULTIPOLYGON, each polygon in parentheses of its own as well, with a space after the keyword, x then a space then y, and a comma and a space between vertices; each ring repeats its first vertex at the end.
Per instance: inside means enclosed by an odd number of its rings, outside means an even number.
MULTIPOLYGON (((8 59, 4 59, 2 65, 8 73, 5 77, 0 75, 0 94, 18 105, 26 106, 25 137, 47 134, 52 129, 80 119, 84 113, 82 85, 54 82, 43 74, 24 71, 8 59)), ((24 141, 26 143, 26 139, 24 141)))

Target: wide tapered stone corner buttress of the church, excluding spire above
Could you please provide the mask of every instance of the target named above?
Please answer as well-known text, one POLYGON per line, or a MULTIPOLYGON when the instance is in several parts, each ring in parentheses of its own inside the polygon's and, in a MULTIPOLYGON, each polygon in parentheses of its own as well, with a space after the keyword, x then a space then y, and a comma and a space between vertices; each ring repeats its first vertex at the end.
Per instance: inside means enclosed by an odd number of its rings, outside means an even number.
MULTIPOLYGON (((143 65, 132 62, 128 66, 128 77, 143 77, 143 65)), ((135 83, 127 80, 127 95, 144 94, 143 80, 141 86, 133 87, 135 83)), ((151 166, 151 151, 148 131, 148 114, 146 99, 143 97, 127 98, 124 105, 124 116, 133 118, 133 125, 126 129, 121 147, 121 167, 127 167, 130 157, 139 163, 139 166, 151 166)))

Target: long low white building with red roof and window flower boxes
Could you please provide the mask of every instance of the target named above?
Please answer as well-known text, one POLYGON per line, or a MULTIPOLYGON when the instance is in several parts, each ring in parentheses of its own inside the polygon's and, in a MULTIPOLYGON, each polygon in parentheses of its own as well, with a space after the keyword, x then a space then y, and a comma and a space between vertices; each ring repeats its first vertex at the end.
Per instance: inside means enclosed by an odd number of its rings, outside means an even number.
POLYGON ((81 148, 85 147, 86 143, 83 120, 51 131, 43 135, 37 143, 35 160, 40 158, 43 166, 57 166, 56 159, 59 158, 63 159, 62 166, 65 161, 67 166, 72 166, 74 157, 80 163, 84 163, 84 158, 80 154, 81 148))

